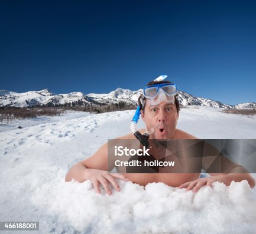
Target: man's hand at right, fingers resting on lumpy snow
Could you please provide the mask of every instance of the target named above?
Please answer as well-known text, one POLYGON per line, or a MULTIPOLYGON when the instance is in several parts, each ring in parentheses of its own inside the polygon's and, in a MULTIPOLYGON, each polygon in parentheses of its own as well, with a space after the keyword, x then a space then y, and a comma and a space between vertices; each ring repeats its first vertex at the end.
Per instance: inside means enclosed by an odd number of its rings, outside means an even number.
POLYGON ((197 180, 193 180, 187 183, 184 183, 179 186, 179 189, 187 188, 187 191, 192 190, 193 192, 197 192, 203 186, 212 186, 214 182, 223 182, 225 183, 225 175, 219 174, 218 176, 210 176, 205 178, 199 178, 197 180))

